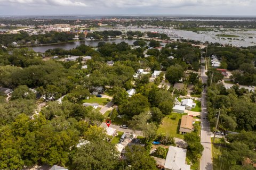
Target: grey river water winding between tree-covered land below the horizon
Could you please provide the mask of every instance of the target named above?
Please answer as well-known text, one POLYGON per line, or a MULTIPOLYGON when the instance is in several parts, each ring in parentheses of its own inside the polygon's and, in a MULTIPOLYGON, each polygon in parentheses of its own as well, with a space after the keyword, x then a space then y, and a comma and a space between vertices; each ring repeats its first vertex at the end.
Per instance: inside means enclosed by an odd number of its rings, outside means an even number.
MULTIPOLYGON (((158 29, 158 28, 99 28, 98 31, 103 30, 120 30, 120 31, 169 31, 174 32, 176 35, 180 37, 184 37, 187 39, 199 40, 199 41, 209 41, 210 43, 220 43, 220 44, 231 44, 235 46, 255 46, 256 45, 256 30, 245 30, 245 29, 221 29, 217 31, 198 31, 199 33, 193 31, 184 31, 184 30, 175 30, 175 29, 158 29), (217 37, 217 34, 227 34, 227 35, 236 35, 239 37, 235 37, 233 39, 227 39, 226 37, 217 37)), ((128 40, 128 39, 108 39, 106 43, 121 43, 124 41, 132 45, 135 40, 128 40)), ((35 50, 35 52, 44 53, 47 49, 53 48, 63 48, 63 49, 73 49, 76 46, 81 44, 85 44, 87 46, 96 47, 99 43, 99 40, 87 40, 87 41, 76 41, 71 43, 62 43, 62 44, 55 44, 55 45, 45 45, 45 46, 37 46, 31 47, 35 50)), ((165 43, 161 43, 165 45, 165 43)))

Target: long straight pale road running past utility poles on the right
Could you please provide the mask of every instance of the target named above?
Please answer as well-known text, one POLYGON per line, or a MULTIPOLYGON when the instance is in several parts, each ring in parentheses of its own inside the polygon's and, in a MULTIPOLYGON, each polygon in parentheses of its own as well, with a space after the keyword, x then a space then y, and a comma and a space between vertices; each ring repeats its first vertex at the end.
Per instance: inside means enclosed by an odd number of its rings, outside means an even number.
MULTIPOLYGON (((204 58, 201 58, 201 63, 204 63, 204 58)), ((205 74, 204 65, 201 65, 201 78, 203 83, 207 83, 207 75, 205 74)), ((204 117, 207 115, 206 108, 206 88, 202 93, 202 112, 201 112, 201 144, 204 147, 203 156, 201 158, 201 170, 212 170, 212 142, 211 129, 209 121, 204 117)))

